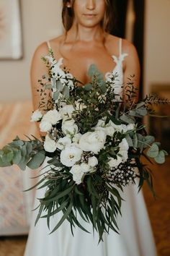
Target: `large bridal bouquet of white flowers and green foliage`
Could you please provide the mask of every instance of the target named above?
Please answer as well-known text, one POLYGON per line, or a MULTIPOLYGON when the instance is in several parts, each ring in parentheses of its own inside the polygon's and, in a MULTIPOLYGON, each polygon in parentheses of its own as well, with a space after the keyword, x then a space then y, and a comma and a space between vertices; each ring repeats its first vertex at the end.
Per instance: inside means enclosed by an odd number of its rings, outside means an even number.
POLYGON ((154 194, 151 170, 140 157, 164 163, 167 153, 147 135, 142 119, 161 100, 150 95, 135 102, 133 77, 123 100, 116 93, 115 76, 105 81, 94 65, 89 68, 91 82, 78 86, 80 82, 66 69, 62 74, 55 69, 52 51, 43 61, 49 74, 39 80, 41 101, 31 121, 39 122, 46 136, 26 141, 16 137, 0 150, 0 166, 35 169, 50 157, 42 179, 34 186, 46 188, 35 223, 47 218, 50 229, 50 217, 62 211, 51 233, 66 219, 72 233, 75 225, 87 231, 76 218, 79 213, 99 233, 100 242, 109 229, 118 232, 116 217, 121 214, 123 187, 138 182, 140 190, 146 181, 154 194), (45 99, 47 91, 52 93, 50 100, 45 99))

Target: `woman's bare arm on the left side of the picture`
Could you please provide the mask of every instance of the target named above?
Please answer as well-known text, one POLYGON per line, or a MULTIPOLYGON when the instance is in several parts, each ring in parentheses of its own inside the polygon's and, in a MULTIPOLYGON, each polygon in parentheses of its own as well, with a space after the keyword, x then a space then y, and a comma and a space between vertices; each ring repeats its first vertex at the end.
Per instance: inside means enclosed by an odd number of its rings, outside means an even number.
MULTIPOLYGON (((34 110, 39 108, 39 103, 41 101, 42 96, 40 96, 40 90, 42 86, 38 82, 38 80, 42 79, 43 74, 48 74, 49 70, 46 67, 44 61, 42 61, 41 57, 48 55, 48 46, 47 43, 42 43, 37 47, 35 53, 32 57, 32 63, 30 68, 30 80, 31 80, 31 88, 32 88, 32 103, 34 110)), ((45 103, 50 99, 50 90, 45 90, 47 95, 45 96, 45 103)), ((42 109, 40 109, 42 110, 42 109)), ((39 123, 37 123, 37 129, 41 136, 45 136, 45 132, 40 132, 39 123)))

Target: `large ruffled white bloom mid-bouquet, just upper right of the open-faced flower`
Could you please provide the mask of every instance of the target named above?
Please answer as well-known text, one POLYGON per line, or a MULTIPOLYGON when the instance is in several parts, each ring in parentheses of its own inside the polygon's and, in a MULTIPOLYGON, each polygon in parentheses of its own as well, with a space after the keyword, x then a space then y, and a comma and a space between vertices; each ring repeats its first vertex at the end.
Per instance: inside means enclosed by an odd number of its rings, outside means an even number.
POLYGON ((79 140, 79 145, 82 150, 92 151, 97 154, 102 148, 104 148, 105 141, 105 132, 97 130, 94 132, 86 132, 82 135, 79 140))

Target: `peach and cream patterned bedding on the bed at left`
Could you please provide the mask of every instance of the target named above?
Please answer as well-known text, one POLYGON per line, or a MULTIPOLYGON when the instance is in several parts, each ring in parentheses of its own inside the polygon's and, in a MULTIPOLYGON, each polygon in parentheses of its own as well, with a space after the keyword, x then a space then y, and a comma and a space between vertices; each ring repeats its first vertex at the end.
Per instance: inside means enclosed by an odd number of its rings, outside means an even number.
MULTIPOLYGON (((17 102, 0 104, 0 148, 11 142, 16 135, 37 136, 34 123, 30 122, 32 103, 17 102)), ((35 184, 37 171, 17 166, 0 168, 0 236, 27 234, 29 230, 34 190, 23 192, 35 184)))

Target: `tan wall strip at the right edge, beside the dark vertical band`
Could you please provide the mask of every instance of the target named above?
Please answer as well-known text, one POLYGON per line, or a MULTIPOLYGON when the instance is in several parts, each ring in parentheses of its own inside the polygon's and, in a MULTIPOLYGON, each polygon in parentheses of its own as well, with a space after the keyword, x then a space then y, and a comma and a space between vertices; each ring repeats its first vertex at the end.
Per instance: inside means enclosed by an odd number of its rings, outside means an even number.
MULTIPOLYGON (((170 85, 170 0, 146 0, 144 85, 170 85)), ((170 87, 169 87, 170 90, 170 87)))

